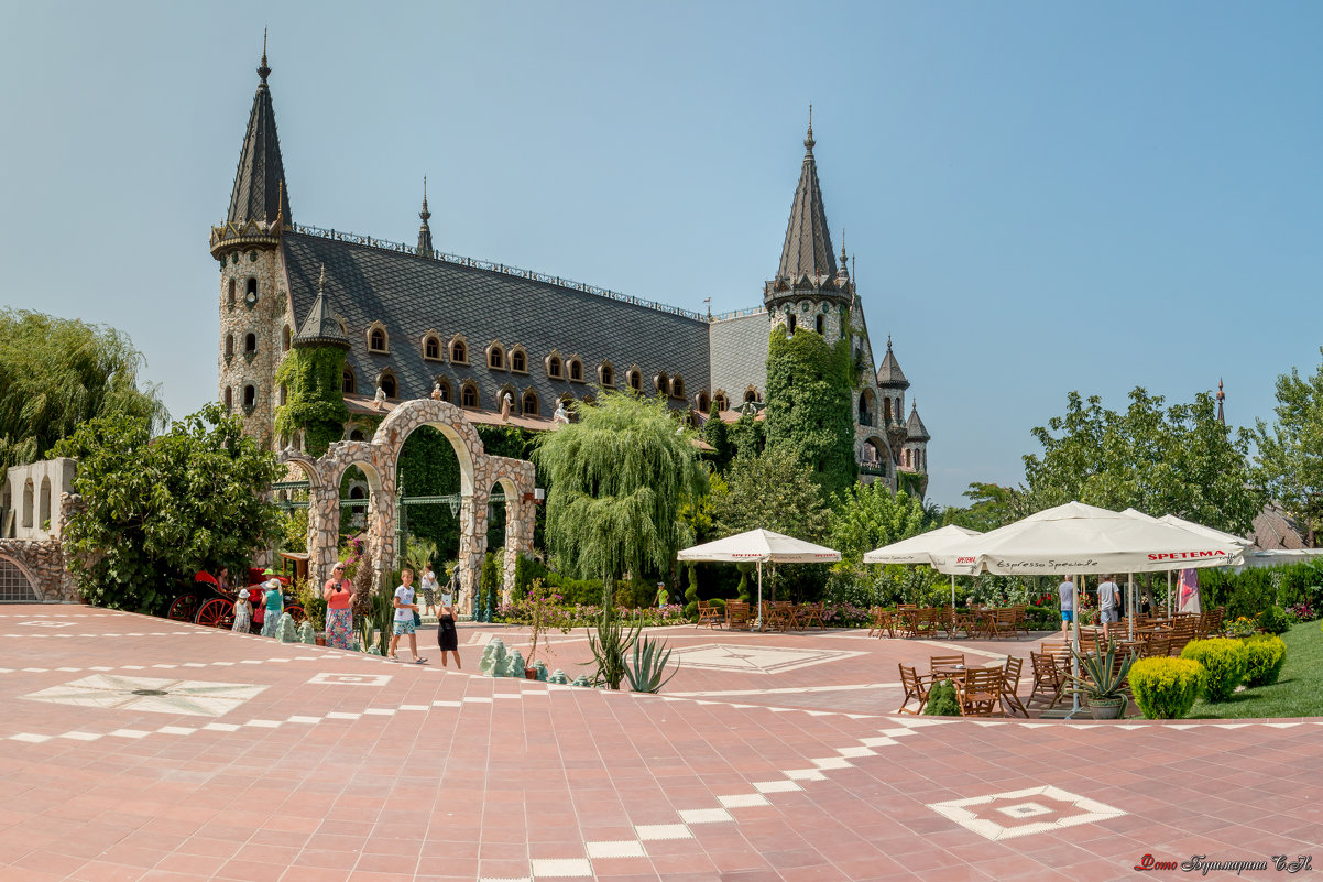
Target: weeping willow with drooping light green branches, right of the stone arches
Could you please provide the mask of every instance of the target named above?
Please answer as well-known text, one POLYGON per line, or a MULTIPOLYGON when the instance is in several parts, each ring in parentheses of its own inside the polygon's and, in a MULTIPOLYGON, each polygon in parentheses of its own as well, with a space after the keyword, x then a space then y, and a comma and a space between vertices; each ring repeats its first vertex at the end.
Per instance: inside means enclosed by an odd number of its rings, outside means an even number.
MULTIPOLYGON (((546 475, 546 539, 558 565, 611 583, 665 571, 691 540, 685 501, 706 490, 693 432, 662 400, 603 391, 533 454, 546 475)), ((610 604, 607 604, 610 605, 610 604)))

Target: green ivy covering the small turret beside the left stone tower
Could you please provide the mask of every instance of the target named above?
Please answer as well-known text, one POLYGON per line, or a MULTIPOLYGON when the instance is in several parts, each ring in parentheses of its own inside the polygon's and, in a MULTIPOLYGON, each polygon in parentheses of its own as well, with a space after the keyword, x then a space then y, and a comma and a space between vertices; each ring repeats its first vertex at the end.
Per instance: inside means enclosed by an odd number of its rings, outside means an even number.
POLYGON ((349 408, 340 391, 344 376, 344 350, 315 346, 291 350, 275 371, 277 385, 287 392, 286 403, 275 409, 275 433, 292 438, 303 432, 310 456, 320 457, 332 441, 344 436, 349 408))

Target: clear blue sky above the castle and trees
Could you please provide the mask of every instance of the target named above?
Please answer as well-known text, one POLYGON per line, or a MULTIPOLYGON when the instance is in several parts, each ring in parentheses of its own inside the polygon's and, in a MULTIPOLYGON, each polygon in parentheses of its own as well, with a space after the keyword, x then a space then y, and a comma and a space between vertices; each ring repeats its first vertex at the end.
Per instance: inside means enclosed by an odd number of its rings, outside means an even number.
POLYGON ((299 222, 411 242, 427 175, 438 248, 689 309, 761 301, 811 101, 941 503, 1072 389, 1249 425, 1320 359, 1316 3, 0 0, 0 303, 127 331, 176 416, 263 26, 299 222))

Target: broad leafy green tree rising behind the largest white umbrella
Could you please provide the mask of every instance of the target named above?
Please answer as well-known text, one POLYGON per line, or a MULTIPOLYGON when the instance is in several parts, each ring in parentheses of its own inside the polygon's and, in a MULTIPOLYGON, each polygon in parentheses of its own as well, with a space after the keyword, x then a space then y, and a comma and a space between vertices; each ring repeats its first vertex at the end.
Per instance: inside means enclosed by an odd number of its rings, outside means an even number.
POLYGON ((1250 486, 1249 433, 1228 430, 1205 392, 1191 404, 1164 409, 1163 401, 1135 388, 1117 413, 1072 392, 1065 416, 1033 429, 1043 457, 1024 457, 1033 510, 1078 499, 1249 532, 1263 507, 1250 486))

